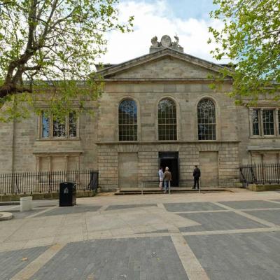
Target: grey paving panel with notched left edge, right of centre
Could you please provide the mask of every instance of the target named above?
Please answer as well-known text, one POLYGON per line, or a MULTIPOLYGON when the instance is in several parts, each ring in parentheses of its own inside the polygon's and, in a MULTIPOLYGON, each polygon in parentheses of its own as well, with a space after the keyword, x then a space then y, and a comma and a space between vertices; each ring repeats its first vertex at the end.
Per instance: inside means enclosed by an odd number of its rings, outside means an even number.
POLYGON ((181 232, 197 232, 205 230, 239 230, 244 228, 267 228, 265 225, 252 221, 234 212, 213 213, 184 213, 184 218, 193 220, 201 225, 188 228, 180 228, 181 232))

